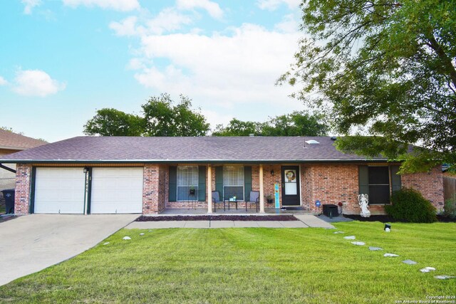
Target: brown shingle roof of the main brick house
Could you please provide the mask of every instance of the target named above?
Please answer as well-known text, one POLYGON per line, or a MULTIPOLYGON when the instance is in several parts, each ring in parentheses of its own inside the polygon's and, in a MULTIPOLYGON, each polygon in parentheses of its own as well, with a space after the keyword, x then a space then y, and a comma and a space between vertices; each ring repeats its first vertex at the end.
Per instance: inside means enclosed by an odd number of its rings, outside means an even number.
MULTIPOLYGON (((0 162, 365 162, 331 137, 73 137, 0 162), (316 140, 318 145, 306 141, 316 140)), ((374 158, 370 161, 385 161, 374 158)))

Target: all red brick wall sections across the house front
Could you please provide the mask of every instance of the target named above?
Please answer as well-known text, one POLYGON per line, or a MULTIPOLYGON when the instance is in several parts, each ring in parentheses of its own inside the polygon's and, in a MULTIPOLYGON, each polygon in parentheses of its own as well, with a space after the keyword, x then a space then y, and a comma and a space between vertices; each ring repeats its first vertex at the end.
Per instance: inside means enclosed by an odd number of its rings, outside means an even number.
MULTIPOLYGON (((142 190, 142 213, 157 214, 165 208, 207 209, 207 201, 168 202, 169 171, 165 164, 145 164, 142 190)), ((281 185, 281 164, 265 164, 264 195, 274 196, 274 183, 281 185), (271 175, 274 170, 274 176, 271 175)), ((30 200, 31 164, 18 164, 16 168, 15 213, 28 214, 30 200)), ((207 167, 206 167, 207 170, 207 167)), ((207 174, 206 174, 207 176, 207 174)), ((440 166, 428 173, 405 174, 401 177, 403 187, 414 188, 429 199, 437 209, 443 206, 443 179, 440 166)), ((212 167, 212 189, 215 189, 215 167, 212 167)), ((279 187, 281 191, 281 187, 279 187)), ((259 190, 259 165, 252 166, 252 190, 259 190)), ((207 190, 206 190, 207 192, 207 190)), ((301 165, 301 205, 312 212, 321 212, 315 206, 321 204, 344 203, 344 214, 358 214, 358 165, 357 164, 302 164, 301 165)), ((207 193, 206 193, 207 197, 207 193)), ((281 198, 281 194, 280 194, 281 198)), ((238 204, 244 208, 244 203, 238 204)), ((266 208, 274 208, 267 204, 266 208)), ((383 206, 370 207, 372 214, 383 214, 383 206)))

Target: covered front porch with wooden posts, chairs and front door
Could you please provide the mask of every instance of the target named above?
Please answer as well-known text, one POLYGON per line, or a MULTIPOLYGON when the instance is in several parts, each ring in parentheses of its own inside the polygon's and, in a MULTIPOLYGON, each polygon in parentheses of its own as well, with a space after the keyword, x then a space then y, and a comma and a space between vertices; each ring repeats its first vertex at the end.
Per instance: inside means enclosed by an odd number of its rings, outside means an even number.
POLYGON ((159 214, 304 213, 300 164, 179 163, 160 172, 159 214))

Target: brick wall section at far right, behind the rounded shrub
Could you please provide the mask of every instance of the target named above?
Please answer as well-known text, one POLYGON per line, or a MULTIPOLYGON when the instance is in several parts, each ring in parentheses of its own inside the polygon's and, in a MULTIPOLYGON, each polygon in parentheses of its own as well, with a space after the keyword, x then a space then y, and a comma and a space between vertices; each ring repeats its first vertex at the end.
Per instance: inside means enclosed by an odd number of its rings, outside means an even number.
POLYGON ((437 211, 443 209, 443 174, 442 166, 433 168, 430 172, 403 174, 400 177, 402 187, 413 188, 421 192, 437 211))

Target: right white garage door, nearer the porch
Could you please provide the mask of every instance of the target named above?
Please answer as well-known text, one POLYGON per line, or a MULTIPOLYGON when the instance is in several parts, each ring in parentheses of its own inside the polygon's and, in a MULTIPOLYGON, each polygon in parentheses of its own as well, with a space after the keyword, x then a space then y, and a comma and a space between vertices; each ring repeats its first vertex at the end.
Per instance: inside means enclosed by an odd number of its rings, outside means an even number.
POLYGON ((142 170, 142 167, 93 168, 90 213, 141 213, 142 170))

